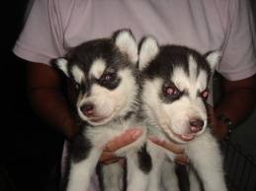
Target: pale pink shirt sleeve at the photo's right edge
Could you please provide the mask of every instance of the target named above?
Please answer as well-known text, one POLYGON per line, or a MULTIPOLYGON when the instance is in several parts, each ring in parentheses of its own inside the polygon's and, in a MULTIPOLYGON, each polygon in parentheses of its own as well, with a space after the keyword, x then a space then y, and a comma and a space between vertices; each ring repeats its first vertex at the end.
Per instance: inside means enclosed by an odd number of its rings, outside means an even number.
POLYGON ((248 78, 256 73, 255 29, 247 0, 229 0, 227 30, 218 72, 228 80, 248 78))

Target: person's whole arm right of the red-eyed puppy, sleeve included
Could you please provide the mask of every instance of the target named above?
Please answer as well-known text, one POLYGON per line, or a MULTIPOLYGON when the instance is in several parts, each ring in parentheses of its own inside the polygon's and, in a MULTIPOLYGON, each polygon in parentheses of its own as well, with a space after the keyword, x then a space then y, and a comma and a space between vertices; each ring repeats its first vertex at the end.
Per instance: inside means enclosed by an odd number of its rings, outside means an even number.
POLYGON ((255 22, 250 2, 234 0, 230 1, 227 11, 223 7, 219 10, 226 30, 221 44, 221 61, 216 68, 222 77, 222 96, 214 105, 214 112, 212 110, 213 133, 219 140, 228 130, 216 117, 223 114, 234 126, 241 124, 254 109, 256 88, 255 22))

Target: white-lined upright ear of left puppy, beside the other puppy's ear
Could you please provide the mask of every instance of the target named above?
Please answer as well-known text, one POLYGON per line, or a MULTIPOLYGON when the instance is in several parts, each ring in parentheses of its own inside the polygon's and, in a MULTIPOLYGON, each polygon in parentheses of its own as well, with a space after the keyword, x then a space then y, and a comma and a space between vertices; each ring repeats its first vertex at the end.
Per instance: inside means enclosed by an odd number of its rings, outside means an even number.
POLYGON ((121 30, 114 33, 115 44, 124 54, 128 55, 128 60, 132 64, 137 63, 137 44, 131 31, 121 30))

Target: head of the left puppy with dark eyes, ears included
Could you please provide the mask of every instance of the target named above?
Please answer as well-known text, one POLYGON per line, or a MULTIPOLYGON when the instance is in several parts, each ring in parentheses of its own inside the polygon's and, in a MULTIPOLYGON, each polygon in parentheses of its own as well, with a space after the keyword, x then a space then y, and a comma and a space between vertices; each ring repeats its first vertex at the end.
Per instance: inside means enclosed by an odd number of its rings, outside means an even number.
POLYGON ((93 126, 125 116, 135 104, 137 45, 128 30, 87 41, 54 65, 76 85, 79 117, 93 126))

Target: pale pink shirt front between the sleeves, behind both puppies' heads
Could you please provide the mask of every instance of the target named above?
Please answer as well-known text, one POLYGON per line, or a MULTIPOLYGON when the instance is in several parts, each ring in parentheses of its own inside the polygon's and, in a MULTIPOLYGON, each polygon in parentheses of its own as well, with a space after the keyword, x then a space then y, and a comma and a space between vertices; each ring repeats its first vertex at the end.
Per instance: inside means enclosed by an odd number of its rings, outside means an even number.
POLYGON ((213 0, 74 0, 62 25, 65 48, 126 28, 138 42, 150 34, 206 53, 220 48, 225 34, 213 0))

